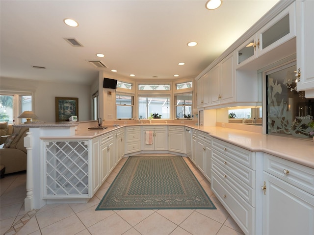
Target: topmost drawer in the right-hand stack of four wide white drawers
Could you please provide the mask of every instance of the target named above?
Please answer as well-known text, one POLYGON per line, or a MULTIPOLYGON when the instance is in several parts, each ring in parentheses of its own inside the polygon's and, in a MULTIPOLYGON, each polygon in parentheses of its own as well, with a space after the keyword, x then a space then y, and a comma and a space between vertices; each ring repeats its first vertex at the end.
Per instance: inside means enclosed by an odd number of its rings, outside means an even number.
POLYGON ((250 169, 255 170, 255 153, 217 139, 212 140, 212 147, 250 169))

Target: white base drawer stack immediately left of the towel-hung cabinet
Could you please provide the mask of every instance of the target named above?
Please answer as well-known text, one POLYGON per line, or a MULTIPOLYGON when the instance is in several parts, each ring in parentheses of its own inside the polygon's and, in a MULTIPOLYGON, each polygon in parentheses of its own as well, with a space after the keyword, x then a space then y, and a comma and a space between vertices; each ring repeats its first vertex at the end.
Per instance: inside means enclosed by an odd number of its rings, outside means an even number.
POLYGON ((141 151, 142 129, 140 126, 126 127, 126 153, 141 151))

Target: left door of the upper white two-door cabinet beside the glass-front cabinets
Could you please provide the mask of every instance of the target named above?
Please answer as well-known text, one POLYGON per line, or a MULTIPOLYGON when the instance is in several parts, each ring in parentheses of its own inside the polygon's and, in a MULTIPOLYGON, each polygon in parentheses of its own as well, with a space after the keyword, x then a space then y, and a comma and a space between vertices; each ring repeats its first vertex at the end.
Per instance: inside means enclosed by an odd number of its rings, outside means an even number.
POLYGON ((220 64, 209 71, 210 79, 210 105, 220 104, 220 64))

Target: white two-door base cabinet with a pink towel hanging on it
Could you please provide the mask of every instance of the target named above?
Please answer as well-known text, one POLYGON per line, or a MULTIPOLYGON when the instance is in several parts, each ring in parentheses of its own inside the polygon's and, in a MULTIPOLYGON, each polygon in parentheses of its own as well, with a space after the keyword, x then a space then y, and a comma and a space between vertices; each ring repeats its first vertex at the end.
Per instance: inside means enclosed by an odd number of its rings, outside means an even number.
POLYGON ((166 126, 143 127, 143 150, 167 150, 166 126), (152 143, 146 143, 149 133, 152 133, 152 143))

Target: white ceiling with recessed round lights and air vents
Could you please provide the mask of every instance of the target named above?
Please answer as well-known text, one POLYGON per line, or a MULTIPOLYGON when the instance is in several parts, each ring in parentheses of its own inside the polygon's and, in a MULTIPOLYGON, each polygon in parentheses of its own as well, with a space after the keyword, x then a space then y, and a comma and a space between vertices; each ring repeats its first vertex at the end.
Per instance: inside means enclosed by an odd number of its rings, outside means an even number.
POLYGON ((206 0, 1 0, 0 75, 82 84, 101 70, 110 78, 196 77, 277 2, 223 0, 207 10, 206 0), (67 26, 65 18, 79 26, 67 26), (190 41, 198 45, 187 47, 190 41), (86 60, 101 60, 107 69, 86 60))

